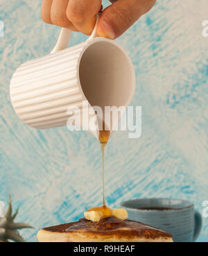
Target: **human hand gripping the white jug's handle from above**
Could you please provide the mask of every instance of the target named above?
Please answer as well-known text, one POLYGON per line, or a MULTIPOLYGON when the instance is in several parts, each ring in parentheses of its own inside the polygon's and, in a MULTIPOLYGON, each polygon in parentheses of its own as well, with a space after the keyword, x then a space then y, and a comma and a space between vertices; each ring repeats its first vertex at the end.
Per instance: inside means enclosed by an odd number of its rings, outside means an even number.
MULTIPOLYGON (((110 0, 112 5, 103 10, 98 21, 100 37, 115 39, 123 34, 141 15, 148 12, 156 0, 110 0)), ((102 0, 42 0, 44 22, 67 27, 90 35, 102 0)))

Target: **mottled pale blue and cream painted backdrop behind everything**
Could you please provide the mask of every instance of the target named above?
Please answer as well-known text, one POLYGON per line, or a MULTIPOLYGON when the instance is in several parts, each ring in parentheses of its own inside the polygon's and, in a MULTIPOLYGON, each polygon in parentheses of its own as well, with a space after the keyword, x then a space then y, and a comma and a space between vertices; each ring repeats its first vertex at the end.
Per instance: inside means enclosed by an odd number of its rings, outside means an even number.
MULTIPOLYGON (((10 103, 12 73, 22 62, 44 56, 60 29, 40 19, 40 0, 0 0, 5 35, 0 38, 0 200, 12 195, 17 221, 35 230, 75 221, 101 204, 100 145, 89 133, 66 128, 35 130, 10 103)), ((142 106, 142 136, 114 133, 107 146, 106 194, 111 207, 129 198, 192 200, 202 212, 208 200, 207 0, 161 0, 117 41, 137 74, 132 105, 142 106)), ((71 45, 85 40, 74 33, 71 45)), ((208 234, 208 219, 202 234, 208 234)))

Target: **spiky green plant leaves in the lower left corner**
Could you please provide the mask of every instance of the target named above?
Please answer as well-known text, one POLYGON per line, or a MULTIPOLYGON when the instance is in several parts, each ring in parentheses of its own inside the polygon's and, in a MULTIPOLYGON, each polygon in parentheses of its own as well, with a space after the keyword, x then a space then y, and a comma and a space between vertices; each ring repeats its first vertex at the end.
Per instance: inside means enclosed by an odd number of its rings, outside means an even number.
POLYGON ((18 210, 12 215, 12 200, 9 196, 9 205, 6 210, 6 214, 0 217, 0 242, 17 241, 24 242, 23 237, 19 234, 18 230, 23 228, 33 228, 31 225, 26 223, 15 223, 15 217, 17 216, 18 210))

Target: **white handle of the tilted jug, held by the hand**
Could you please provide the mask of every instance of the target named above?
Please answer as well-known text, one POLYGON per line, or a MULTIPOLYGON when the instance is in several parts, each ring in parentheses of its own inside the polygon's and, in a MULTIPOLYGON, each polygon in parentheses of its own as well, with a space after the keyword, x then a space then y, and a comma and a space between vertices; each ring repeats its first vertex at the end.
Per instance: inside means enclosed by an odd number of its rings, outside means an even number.
MULTIPOLYGON (((100 14, 98 13, 96 15, 96 24, 94 26, 94 30, 92 31, 92 34, 90 35, 90 37, 87 40, 92 40, 92 39, 94 39, 94 37, 97 36, 96 29, 97 29, 99 17, 100 17, 100 14)), ((62 28, 60 35, 58 37, 58 41, 55 44, 55 47, 53 48, 51 53, 55 53, 57 51, 66 49, 69 44, 69 40, 71 38, 71 33, 72 33, 72 31, 69 28, 62 28)))

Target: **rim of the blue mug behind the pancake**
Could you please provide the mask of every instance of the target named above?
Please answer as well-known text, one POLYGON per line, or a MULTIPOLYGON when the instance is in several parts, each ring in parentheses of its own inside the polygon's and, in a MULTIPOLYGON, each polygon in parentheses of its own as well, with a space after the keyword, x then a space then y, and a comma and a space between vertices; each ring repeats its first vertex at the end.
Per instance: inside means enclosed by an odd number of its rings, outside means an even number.
MULTIPOLYGON (((171 205, 163 205, 164 207, 168 207, 171 205)), ((172 205, 174 206, 174 205, 172 205)), ((183 200, 183 199, 177 199, 177 198, 133 198, 130 200, 125 200, 121 203, 121 207, 125 207, 128 210, 132 210, 132 211, 139 211, 139 212, 171 212, 171 211, 175 211, 175 210, 184 210, 184 209, 188 209, 188 208, 194 208, 194 205, 191 201, 189 200, 183 200), (180 203, 186 203, 188 205, 182 206, 182 207, 175 207, 175 208, 171 208, 171 209, 165 209, 165 210, 157 210, 157 209, 141 209, 141 208, 136 208, 136 207, 130 207, 130 206, 126 206, 127 203, 132 203, 134 201, 141 201, 141 200, 173 200, 173 201, 180 201, 180 203)), ((148 207, 148 206, 147 206, 148 207)), ((159 207, 159 206, 158 206, 159 207)), ((162 206, 161 206, 162 207, 162 206)))

